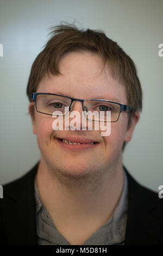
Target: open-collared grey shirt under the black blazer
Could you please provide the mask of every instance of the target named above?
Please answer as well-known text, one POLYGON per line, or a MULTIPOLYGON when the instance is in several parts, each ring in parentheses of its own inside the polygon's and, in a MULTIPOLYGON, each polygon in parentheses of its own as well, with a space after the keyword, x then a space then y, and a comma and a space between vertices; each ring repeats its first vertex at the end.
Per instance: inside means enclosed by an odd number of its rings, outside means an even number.
MULTIPOLYGON (((127 210, 128 210, 128 180, 126 171, 123 169, 124 186, 121 198, 115 208, 114 214, 108 222, 96 230, 83 245, 124 245, 126 233, 127 210)), ((36 200, 36 231, 37 242, 39 245, 71 245, 55 227, 51 216, 45 205, 43 205, 36 181, 35 181, 35 200, 36 200)))

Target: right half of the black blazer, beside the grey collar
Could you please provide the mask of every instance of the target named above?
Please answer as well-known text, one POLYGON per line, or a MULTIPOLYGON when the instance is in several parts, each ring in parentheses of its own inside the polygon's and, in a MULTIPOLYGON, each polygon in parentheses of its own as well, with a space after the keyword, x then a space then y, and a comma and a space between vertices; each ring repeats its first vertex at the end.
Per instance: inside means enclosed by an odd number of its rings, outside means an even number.
MULTIPOLYGON (((124 167, 124 169, 126 169, 124 167)), ((139 185, 128 173, 128 218, 125 245, 159 243, 160 221, 154 217, 156 193, 139 185)))

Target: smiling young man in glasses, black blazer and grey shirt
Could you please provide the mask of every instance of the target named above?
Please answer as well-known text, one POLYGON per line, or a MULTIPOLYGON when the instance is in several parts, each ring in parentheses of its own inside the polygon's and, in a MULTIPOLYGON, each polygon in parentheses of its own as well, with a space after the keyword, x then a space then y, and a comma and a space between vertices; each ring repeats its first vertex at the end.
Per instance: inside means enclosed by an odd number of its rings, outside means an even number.
POLYGON ((41 159, 4 185, 0 243, 162 244, 162 202, 122 163, 142 109, 133 60, 101 31, 60 25, 33 63, 27 95, 41 159), (64 129, 54 129, 53 112, 65 107, 64 129), (110 111, 110 135, 93 115, 83 125, 85 110, 110 111))

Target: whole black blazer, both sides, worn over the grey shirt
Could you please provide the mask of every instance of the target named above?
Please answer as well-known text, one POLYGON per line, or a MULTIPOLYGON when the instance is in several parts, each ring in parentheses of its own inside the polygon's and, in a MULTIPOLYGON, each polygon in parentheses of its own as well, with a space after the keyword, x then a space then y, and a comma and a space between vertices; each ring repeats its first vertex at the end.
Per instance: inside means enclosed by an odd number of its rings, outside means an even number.
MULTIPOLYGON (((0 245, 37 245, 34 178, 38 164, 21 178, 3 185, 0 245)), ((163 245, 163 198, 126 172, 129 204, 124 244, 163 245)))

